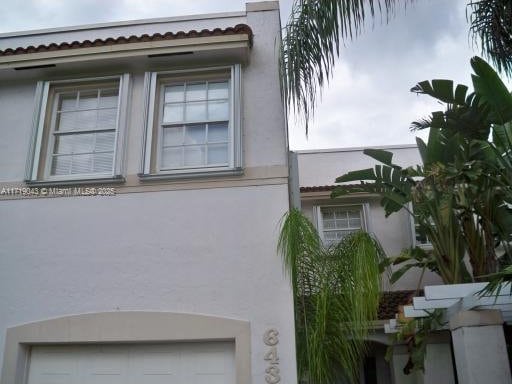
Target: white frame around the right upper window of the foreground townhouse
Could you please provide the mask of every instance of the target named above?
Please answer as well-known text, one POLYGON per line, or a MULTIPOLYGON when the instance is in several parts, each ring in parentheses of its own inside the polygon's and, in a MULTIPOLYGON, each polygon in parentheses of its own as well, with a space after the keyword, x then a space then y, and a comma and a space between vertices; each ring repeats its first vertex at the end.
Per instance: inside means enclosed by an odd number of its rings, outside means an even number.
MULTIPOLYGON (((178 79, 179 81, 179 79, 178 79)), ((194 82, 201 82, 198 78, 194 82)), ((209 79, 208 81, 212 81, 209 79)), ((187 81, 185 81, 187 82, 187 81)), ((211 175, 240 174, 242 169, 242 140, 241 140, 241 67, 239 64, 220 67, 195 68, 174 71, 146 72, 145 74, 145 134, 142 148, 142 163, 139 176, 141 179, 152 178, 173 178, 173 177, 194 177, 211 175), (157 95, 163 92, 167 80, 173 76, 177 79, 181 76, 195 75, 215 71, 229 71, 230 94, 230 115, 228 132, 230 141, 228 143, 229 162, 227 166, 198 166, 190 168, 161 169, 161 143, 163 140, 163 129, 161 127, 162 97, 159 105, 157 95), (163 81, 161 79, 164 79, 163 81), (155 127, 155 125, 157 125, 155 127), (156 135, 156 137, 155 137, 156 135), (156 141, 156 143, 155 143, 156 141), (153 150, 155 148, 155 150, 153 150), (156 152, 156 153, 155 153, 156 152), (152 168, 152 163, 155 166, 152 168)))

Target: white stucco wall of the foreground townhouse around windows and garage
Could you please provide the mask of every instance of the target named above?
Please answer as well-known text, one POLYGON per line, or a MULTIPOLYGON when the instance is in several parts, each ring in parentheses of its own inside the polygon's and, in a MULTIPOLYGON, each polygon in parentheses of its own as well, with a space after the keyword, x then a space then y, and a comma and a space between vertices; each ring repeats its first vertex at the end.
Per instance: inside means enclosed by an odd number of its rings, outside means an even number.
MULTIPOLYGON (((86 312, 190 312, 250 322, 254 383, 264 382, 268 367, 263 332, 277 328, 281 380, 296 382, 292 296, 276 253, 278 223, 289 199, 275 44, 279 12, 274 8, 270 3, 267 10, 121 26, 115 32, 225 28, 241 22, 252 28, 254 44, 242 66, 246 173, 239 177, 141 184, 143 75, 155 69, 126 63, 105 72, 49 69, 52 78, 59 73, 67 78, 131 74, 124 169, 133 185, 117 186, 120 193, 112 197, 0 199, 0 362, 5 329, 22 323, 86 312)), ((101 38, 113 36, 112 31, 0 36, 0 47, 80 40, 85 34, 101 38)), ((159 70, 172 69, 172 61, 167 68, 159 65, 159 70)), ((45 79, 28 72, 26 79, 17 73, 16 81, 0 84, 3 187, 24 185, 36 81, 45 79)))

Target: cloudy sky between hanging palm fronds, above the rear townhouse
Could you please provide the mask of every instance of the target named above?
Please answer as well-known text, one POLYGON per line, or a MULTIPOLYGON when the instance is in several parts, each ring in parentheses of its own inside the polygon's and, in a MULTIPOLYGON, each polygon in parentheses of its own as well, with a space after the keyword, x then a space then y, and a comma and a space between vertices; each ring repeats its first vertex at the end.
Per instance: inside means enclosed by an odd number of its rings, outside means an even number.
POLYGON ((462 1, 417 2, 347 44, 305 139, 290 127, 293 149, 414 143, 410 123, 442 109, 410 88, 450 78, 470 84, 470 50, 462 1))

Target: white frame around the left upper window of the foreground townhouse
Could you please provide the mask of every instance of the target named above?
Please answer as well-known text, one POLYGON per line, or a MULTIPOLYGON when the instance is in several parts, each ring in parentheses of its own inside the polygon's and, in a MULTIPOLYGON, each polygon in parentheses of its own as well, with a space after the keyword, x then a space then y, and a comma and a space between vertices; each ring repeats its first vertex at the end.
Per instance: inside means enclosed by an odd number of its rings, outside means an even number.
POLYGON ((129 102, 130 75, 125 73, 116 76, 74 78, 66 80, 40 81, 36 87, 35 108, 33 116, 32 140, 26 167, 27 183, 55 183, 63 182, 90 182, 90 181, 111 181, 114 179, 123 180, 123 156, 125 151, 126 122, 129 102), (77 85, 77 89, 93 83, 117 81, 119 82, 117 119, 114 139, 114 157, 111 172, 51 175, 51 155, 54 146, 52 136, 55 119, 56 104, 48 105, 51 89, 67 84, 77 85), (50 113, 51 115, 47 116, 50 113), (48 122, 50 121, 50 122, 48 122), (43 137, 48 135, 47 147, 43 148, 43 137), (42 158, 46 150, 45 158, 42 158), (42 178, 39 176, 42 170, 42 178))

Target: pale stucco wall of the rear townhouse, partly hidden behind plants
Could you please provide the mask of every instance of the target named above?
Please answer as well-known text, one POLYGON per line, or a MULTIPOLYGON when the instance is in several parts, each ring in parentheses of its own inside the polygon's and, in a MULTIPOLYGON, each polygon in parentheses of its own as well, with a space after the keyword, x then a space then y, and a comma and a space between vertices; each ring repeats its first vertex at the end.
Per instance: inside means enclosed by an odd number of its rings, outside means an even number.
MULTIPOLYGON (((393 152, 394 163, 401 166, 421 164, 418 149, 414 145, 381 147, 393 152)), ((349 171, 373 168, 377 162, 363 154, 363 148, 340 148, 318 151, 298 151, 299 183, 301 187, 333 185, 336 177, 349 171)), ((314 207, 320 205, 350 205, 369 204, 367 229, 375 234, 388 256, 397 256, 402 249, 410 247, 413 242, 413 232, 410 216, 401 211, 385 217, 376 196, 349 195, 330 199, 329 192, 302 193, 301 207, 304 213, 316 222, 314 207)), ((416 289, 420 278, 420 270, 411 270, 393 286, 383 279, 384 289, 416 289)), ((422 286, 439 284, 437 275, 425 273, 422 286)))

